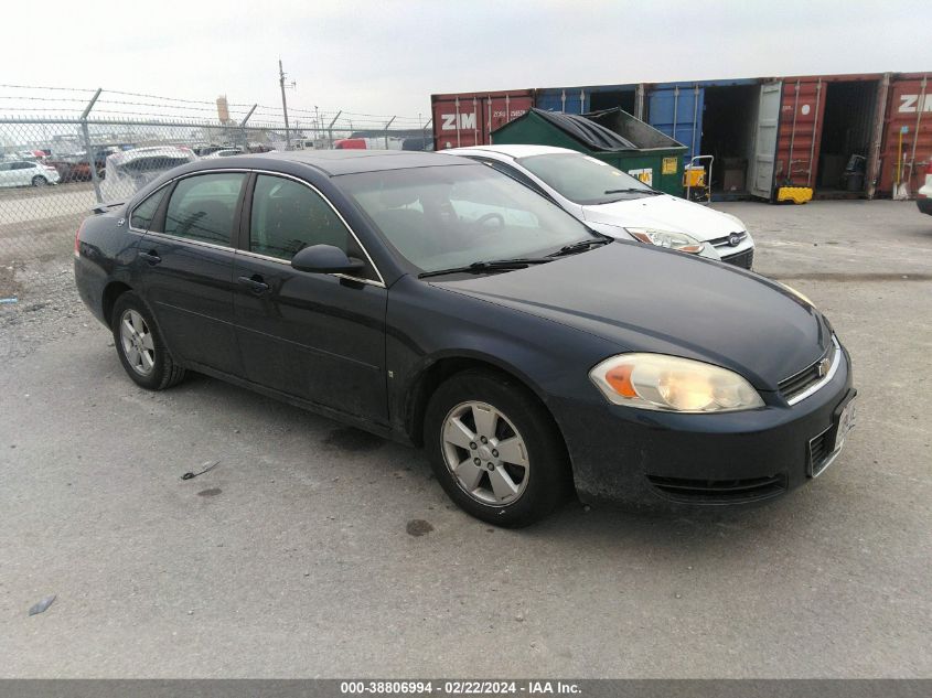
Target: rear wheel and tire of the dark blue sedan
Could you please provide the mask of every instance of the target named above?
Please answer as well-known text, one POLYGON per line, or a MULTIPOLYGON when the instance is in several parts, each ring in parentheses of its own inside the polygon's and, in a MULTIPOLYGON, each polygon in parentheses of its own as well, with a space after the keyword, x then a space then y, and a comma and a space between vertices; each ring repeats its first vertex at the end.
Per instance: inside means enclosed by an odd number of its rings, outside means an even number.
POLYGON ((114 346, 132 380, 148 390, 163 390, 184 379, 142 300, 127 291, 114 303, 114 346))

